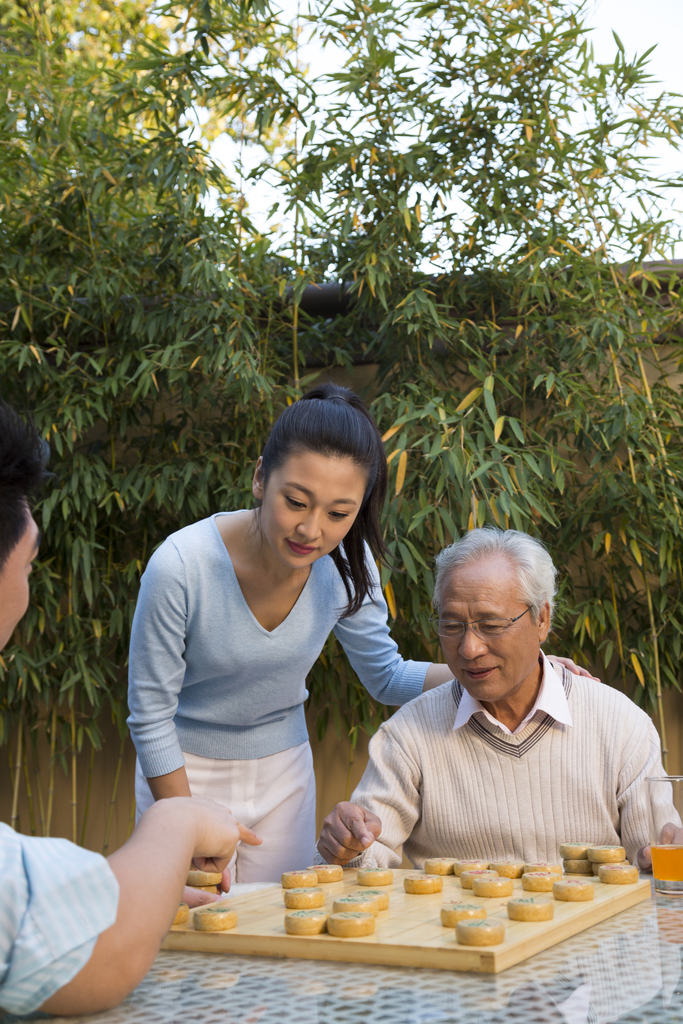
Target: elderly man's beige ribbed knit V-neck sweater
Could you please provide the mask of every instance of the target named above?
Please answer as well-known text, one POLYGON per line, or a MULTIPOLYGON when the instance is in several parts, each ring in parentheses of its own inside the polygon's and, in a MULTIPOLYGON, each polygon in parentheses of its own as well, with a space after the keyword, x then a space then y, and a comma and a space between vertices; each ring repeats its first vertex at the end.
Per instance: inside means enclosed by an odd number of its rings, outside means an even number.
POLYGON ((649 842, 648 775, 663 775, 659 738, 623 693, 562 670, 573 725, 538 712, 516 736, 481 713, 453 731, 457 680, 400 709, 370 743, 353 803, 382 833, 352 861, 396 867, 401 846, 426 857, 557 861, 560 843, 649 842))

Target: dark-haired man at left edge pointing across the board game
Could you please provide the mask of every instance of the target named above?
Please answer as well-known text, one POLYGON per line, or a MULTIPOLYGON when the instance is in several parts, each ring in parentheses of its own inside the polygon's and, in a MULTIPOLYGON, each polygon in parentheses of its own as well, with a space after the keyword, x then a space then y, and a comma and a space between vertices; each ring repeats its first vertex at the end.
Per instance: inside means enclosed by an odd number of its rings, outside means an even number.
MULTIPOLYGON (((29 605, 40 535, 28 498, 43 465, 35 429, 0 401, 0 650, 29 605)), ((151 807, 108 860, 0 823, 0 1007, 65 1015, 116 1006, 150 970, 191 859, 222 871, 240 840, 260 843, 224 807, 184 797, 151 807)))

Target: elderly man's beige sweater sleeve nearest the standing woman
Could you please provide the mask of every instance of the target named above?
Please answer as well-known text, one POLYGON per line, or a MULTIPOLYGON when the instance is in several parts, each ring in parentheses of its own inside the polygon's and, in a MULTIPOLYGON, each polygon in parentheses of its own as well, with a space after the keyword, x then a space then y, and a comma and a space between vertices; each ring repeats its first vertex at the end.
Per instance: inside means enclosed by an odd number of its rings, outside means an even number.
MULTIPOLYGON (((389 723, 370 741, 370 760, 351 802, 377 814, 382 822, 378 840, 366 850, 366 867, 400 867, 401 847, 422 812, 420 766, 392 735, 389 723)), ((355 861, 351 866, 355 866, 355 861)))

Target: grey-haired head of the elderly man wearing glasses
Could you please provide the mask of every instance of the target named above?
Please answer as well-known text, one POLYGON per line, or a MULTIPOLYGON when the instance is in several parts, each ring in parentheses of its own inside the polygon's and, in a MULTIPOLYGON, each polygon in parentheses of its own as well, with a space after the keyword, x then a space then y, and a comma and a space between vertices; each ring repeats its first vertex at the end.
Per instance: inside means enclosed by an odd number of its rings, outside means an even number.
POLYGON ((437 556, 443 654, 477 700, 504 700, 533 673, 550 632, 556 577, 544 546, 515 529, 470 530, 437 556), (464 631, 457 625, 473 622, 464 631))

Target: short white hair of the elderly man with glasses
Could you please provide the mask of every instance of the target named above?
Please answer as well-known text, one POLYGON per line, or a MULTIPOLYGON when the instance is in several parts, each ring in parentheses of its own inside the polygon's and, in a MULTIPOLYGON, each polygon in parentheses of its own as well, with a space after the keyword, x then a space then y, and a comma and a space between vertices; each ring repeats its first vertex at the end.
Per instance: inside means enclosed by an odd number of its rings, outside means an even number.
POLYGON ((549 605, 552 617, 557 569, 545 545, 518 529, 498 529, 495 526, 471 529, 436 556, 433 598, 436 610, 450 573, 489 555, 504 555, 512 564, 519 583, 519 596, 531 609, 533 618, 538 621, 544 604, 549 605))

